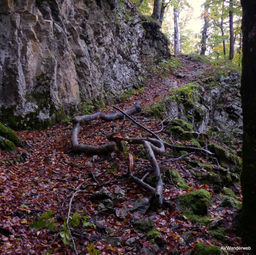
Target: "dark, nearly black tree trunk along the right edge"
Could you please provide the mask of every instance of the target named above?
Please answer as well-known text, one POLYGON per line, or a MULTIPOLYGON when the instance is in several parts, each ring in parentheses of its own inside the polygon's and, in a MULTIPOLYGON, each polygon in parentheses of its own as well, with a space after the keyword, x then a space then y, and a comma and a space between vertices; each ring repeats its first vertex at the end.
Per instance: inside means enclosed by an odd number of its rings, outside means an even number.
POLYGON ((241 0, 243 7, 243 60, 241 99, 243 108, 243 167, 241 187, 242 231, 246 243, 256 250, 256 5, 255 0, 241 0))

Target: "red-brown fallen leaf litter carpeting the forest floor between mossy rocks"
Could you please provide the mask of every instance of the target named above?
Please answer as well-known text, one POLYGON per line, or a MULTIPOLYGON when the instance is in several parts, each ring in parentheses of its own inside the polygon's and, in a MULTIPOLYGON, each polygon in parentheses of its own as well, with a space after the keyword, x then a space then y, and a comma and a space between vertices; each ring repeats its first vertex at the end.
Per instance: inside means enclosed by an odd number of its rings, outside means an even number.
MULTIPOLYGON (((147 109, 147 105, 150 106, 160 99, 170 88, 181 87, 210 67, 208 63, 193 62, 185 57, 180 57, 180 60, 183 66, 178 70, 169 73, 165 78, 162 78, 156 70, 144 83, 144 90, 138 90, 132 97, 124 99, 117 107, 122 110, 131 108, 139 99, 143 109, 147 109), (182 73, 185 75, 183 76, 182 73)), ((112 106, 106 106, 101 111, 107 113, 113 109, 112 106)), ((140 113, 134 115, 133 118, 153 132, 161 129, 161 121, 154 117, 143 117, 140 113)), ((109 143, 106 134, 111 133, 113 128, 122 136, 147 135, 146 131, 127 118, 125 121, 115 122, 94 120, 81 127, 79 141, 97 145, 109 143)), ((57 124, 47 130, 16 132, 22 140, 27 141, 28 147, 17 148, 16 154, 0 152, 1 254, 25 255, 46 252, 47 255, 75 254, 71 245, 64 245, 63 236, 58 234, 59 231, 65 232, 61 225, 67 217, 69 201, 74 193, 67 188, 78 188, 81 185, 86 185, 86 190, 90 192, 99 191, 104 186, 111 193, 109 198, 113 198, 110 200, 114 201, 114 204, 111 205, 112 202, 109 201, 109 205, 105 204, 107 209, 100 211, 97 203, 91 199, 90 193, 78 193, 75 196, 71 205, 71 224, 73 224, 72 236, 79 254, 189 255, 194 253, 197 243, 219 247, 226 244, 224 241, 213 238, 207 226, 180 216, 175 207, 162 206, 161 209, 154 210, 146 205, 147 210, 143 215, 138 211, 134 213, 132 210, 127 210, 128 213, 125 216, 122 215, 122 210, 134 208, 136 202, 144 201, 145 198, 148 201, 151 197, 148 192, 126 177, 129 164, 127 152, 135 155, 134 173, 136 172, 136 175, 143 176, 150 171, 151 166, 143 156, 141 148, 138 145, 130 145, 124 154, 111 153, 104 156, 98 155, 98 157, 84 153, 75 154, 71 152, 71 130, 72 124, 57 124), (91 171, 98 183, 94 180, 91 171), (110 183, 107 183, 108 181, 110 183), (38 221, 39 217, 47 211, 51 211, 52 215, 51 213, 45 214, 45 219, 41 218, 41 220, 46 222, 49 218, 52 230, 47 229, 50 224, 48 222, 47 226, 42 225, 41 229, 39 227, 31 231, 30 223, 34 220, 38 221), (158 243, 159 250, 149 242, 148 236, 143 231, 133 226, 133 218, 148 217, 153 219, 154 228, 160 233, 162 241, 158 243), (192 235, 190 241, 185 239, 184 233, 192 235), (127 242, 128 239, 130 242, 127 242), (90 250, 92 244, 100 253, 93 249, 90 250)), ((164 133, 159 136, 166 139, 164 133)), ((175 140, 171 142, 174 143, 175 140)), ((189 145, 189 142, 185 144, 189 145)), ((169 152, 168 149, 166 151, 169 152)), ((199 159, 204 164, 208 163, 207 158, 197 153, 189 157, 190 160, 199 159)), ((223 221, 225 241, 228 240, 230 246, 244 246, 237 223, 239 210, 235 208, 218 210, 223 195, 217 196, 211 187, 199 184, 185 168, 187 165, 185 159, 167 161, 169 158, 170 155, 167 154, 157 156, 158 162, 162 162, 160 168, 162 170, 176 169, 191 190, 182 190, 172 181, 166 182, 163 190, 164 199, 172 200, 179 195, 192 192, 193 188, 207 190, 214 201, 208 209, 208 215, 213 222, 220 219, 223 221)), ((198 167, 195 168, 198 170, 198 167)), ((240 185, 236 184, 233 190, 236 190, 241 201, 241 195, 238 193, 240 185)), ((69 237, 64 242, 69 242, 69 237)), ((241 250, 229 252, 243 253, 241 250)))

